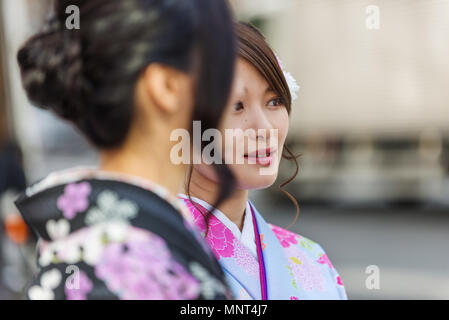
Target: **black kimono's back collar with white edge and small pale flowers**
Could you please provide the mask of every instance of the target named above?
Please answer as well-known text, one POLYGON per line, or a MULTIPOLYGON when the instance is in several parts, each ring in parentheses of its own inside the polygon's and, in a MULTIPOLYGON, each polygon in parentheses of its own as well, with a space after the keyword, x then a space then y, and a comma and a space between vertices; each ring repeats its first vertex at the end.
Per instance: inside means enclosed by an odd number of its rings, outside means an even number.
POLYGON ((171 224, 175 221, 168 222, 170 219, 180 220, 191 231, 195 228, 188 209, 163 187, 139 177, 91 168, 52 173, 27 188, 15 204, 25 222, 46 241, 101 221, 135 221, 136 216, 143 218, 137 215, 139 211, 170 210, 173 215, 160 219, 171 224))

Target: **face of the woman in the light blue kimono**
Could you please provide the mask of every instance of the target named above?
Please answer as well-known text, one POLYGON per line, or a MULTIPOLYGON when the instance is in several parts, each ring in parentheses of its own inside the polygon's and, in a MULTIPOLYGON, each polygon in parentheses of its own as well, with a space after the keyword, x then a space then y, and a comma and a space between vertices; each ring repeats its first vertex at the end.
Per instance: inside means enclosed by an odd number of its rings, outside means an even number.
MULTIPOLYGON (((224 139, 223 157, 239 189, 263 189, 275 182, 288 125, 283 99, 255 67, 239 58, 219 128, 224 139)), ((216 180, 210 166, 197 165, 196 169, 216 180)))

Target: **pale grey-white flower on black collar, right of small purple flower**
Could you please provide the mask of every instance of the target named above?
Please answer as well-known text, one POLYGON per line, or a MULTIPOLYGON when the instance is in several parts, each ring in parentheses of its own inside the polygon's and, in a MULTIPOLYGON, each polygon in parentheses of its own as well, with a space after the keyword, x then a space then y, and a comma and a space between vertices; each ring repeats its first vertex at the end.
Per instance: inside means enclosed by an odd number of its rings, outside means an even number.
POLYGON ((87 225, 111 220, 130 220, 137 216, 138 206, 129 200, 119 200, 118 194, 103 191, 98 195, 96 208, 91 208, 86 215, 87 225))

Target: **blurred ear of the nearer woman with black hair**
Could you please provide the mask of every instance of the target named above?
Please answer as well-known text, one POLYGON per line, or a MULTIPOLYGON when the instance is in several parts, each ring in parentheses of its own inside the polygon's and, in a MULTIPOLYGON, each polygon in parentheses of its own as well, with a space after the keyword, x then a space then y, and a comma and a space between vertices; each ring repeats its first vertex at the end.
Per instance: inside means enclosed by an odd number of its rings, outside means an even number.
POLYGON ((163 113, 176 113, 191 101, 189 97, 192 96, 192 86, 189 75, 174 68, 152 63, 143 73, 143 81, 146 94, 163 113))

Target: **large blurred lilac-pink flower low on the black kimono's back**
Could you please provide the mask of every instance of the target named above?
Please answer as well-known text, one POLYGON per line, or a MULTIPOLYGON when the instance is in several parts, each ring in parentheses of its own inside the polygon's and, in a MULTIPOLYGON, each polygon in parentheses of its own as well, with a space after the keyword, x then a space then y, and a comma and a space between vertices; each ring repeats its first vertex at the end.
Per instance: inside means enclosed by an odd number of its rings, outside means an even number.
POLYGON ((200 290, 156 236, 107 245, 95 275, 124 300, 193 299, 200 290))

